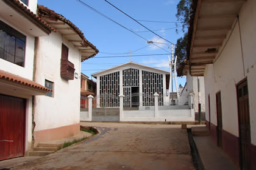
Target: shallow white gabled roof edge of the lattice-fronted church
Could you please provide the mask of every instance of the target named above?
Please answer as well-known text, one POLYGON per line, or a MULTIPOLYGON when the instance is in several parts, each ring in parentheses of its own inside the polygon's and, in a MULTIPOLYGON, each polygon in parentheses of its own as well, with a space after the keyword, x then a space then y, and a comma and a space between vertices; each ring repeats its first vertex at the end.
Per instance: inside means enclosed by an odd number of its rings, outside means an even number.
POLYGON ((97 75, 101 74, 101 73, 104 73, 104 72, 108 72, 108 71, 111 71, 111 70, 116 70, 116 69, 120 69, 121 67, 125 67, 125 66, 130 66, 131 68, 133 69, 153 69, 157 72, 161 72, 161 73, 165 73, 165 74, 169 74, 169 72, 165 71, 165 70, 161 70, 161 69, 156 69, 154 67, 149 67, 149 66, 145 66, 143 64, 138 64, 138 63, 135 63, 133 61, 129 61, 128 63, 124 63, 124 64, 121 64, 121 65, 118 65, 118 66, 115 66, 115 67, 112 67, 110 69, 106 69, 106 70, 102 70, 100 72, 96 72, 96 73, 93 73, 91 74, 94 78, 97 77, 97 75))

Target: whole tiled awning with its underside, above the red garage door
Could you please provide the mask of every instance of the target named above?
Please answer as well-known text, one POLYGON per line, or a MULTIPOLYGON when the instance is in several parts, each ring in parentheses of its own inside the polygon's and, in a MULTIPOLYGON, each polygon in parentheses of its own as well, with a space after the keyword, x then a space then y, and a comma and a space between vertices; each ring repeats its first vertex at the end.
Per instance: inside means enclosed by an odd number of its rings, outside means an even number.
POLYGON ((0 94, 30 98, 45 95, 49 91, 51 90, 27 78, 0 70, 0 94))

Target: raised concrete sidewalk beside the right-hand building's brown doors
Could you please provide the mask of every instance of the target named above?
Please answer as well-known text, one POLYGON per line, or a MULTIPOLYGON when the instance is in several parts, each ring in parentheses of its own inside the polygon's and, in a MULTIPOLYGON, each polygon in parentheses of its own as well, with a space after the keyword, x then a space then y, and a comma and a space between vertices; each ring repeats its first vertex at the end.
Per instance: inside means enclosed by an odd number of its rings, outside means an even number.
MULTIPOLYGON (((202 129, 204 131, 204 129, 202 129)), ((196 143, 199 157, 202 165, 206 170, 221 170, 221 169, 239 169, 233 164, 227 155, 224 154, 221 148, 215 145, 212 138, 207 136, 193 136, 194 143, 196 143)))

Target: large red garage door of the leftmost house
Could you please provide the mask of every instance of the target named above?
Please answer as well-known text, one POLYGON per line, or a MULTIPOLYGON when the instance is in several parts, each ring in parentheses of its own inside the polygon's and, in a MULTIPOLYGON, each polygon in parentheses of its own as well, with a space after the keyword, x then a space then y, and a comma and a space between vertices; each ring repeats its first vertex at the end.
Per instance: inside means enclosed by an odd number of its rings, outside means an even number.
POLYGON ((26 100, 0 95, 0 160, 24 156, 26 100))

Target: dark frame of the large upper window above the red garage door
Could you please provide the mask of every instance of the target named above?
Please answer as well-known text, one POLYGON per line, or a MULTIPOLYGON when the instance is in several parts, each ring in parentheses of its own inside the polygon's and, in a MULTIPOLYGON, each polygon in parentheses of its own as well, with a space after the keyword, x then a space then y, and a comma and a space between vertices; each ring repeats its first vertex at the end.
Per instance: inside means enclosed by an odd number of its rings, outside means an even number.
MULTIPOLYGON (((25 59, 26 59, 26 44, 27 44, 27 36, 24 35, 23 33, 19 32, 18 30, 14 29, 13 27, 11 27, 10 25, 6 24, 4 21, 0 20, 0 30, 2 30, 3 32, 5 32, 7 35, 9 35, 10 37, 13 37, 15 38, 15 46, 14 46, 14 55, 13 55, 13 61, 9 61, 7 60, 7 58, 4 58, 4 56, 0 56, 0 58, 2 60, 5 60, 5 61, 8 61, 10 63, 13 63, 13 64, 16 64, 18 66, 21 66, 21 67, 25 67, 25 59), (23 58, 22 58, 22 64, 18 64, 16 63, 16 58, 18 58, 16 56, 16 42, 17 42, 17 39, 19 41, 22 41, 24 42, 24 53, 23 53, 23 58)), ((5 53, 5 49, 4 50, 4 53, 5 53)))

